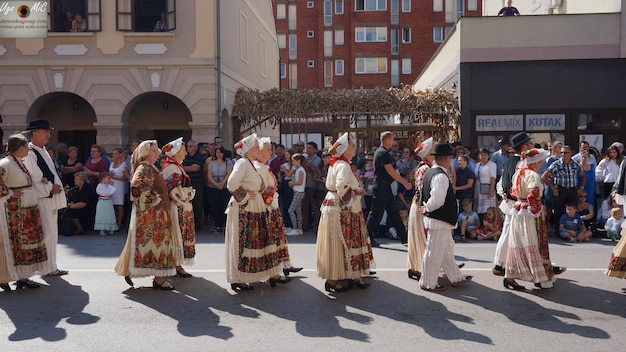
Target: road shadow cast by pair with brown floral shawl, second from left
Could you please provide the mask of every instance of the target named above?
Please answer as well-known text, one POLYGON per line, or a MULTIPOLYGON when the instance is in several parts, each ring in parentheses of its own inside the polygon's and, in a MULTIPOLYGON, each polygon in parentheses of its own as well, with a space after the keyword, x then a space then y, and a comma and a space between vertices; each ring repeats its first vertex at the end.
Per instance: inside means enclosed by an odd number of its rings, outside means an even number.
POLYGON ((212 336, 222 340, 233 337, 232 328, 220 325, 220 317, 211 309, 245 318, 259 316, 255 310, 229 301, 226 296, 230 294, 224 288, 202 277, 172 278, 172 283, 176 291, 154 290, 150 286, 130 288, 123 293, 126 299, 177 321, 178 332, 188 337, 212 336), (215 302, 220 303, 219 307, 212 306, 215 302))

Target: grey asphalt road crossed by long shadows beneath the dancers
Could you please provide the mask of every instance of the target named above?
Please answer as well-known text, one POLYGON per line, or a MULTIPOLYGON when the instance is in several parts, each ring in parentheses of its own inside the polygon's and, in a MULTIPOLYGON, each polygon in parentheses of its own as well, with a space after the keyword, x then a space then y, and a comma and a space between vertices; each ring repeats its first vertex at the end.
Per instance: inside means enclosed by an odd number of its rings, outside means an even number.
MULTIPOLYGON (((381 239, 377 274, 366 290, 332 296, 315 272, 315 234, 290 237, 294 281, 250 293, 230 290, 223 235, 198 235, 190 279, 177 291, 113 266, 125 235, 61 237, 59 267, 35 277, 49 286, 0 293, 2 351, 622 351, 626 280, 604 276, 613 244, 552 239, 552 260, 566 265, 550 290, 513 292, 491 274, 495 242, 458 243, 474 281, 441 293, 407 278, 406 247, 381 239)), ((522 282, 520 282, 522 283, 522 282)), ((530 289, 531 284, 525 283, 530 289)))

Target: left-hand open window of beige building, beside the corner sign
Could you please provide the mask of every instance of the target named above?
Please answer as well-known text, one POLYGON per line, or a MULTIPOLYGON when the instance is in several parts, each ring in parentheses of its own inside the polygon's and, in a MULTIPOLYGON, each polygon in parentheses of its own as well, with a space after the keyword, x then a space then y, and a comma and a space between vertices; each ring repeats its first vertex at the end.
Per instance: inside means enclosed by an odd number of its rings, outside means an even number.
POLYGON ((48 13, 50 32, 99 32, 101 0, 52 0, 48 13), (73 24, 77 15, 80 24, 73 24), (75 28, 72 30, 72 28, 75 28), (77 29, 76 29, 77 28, 77 29))

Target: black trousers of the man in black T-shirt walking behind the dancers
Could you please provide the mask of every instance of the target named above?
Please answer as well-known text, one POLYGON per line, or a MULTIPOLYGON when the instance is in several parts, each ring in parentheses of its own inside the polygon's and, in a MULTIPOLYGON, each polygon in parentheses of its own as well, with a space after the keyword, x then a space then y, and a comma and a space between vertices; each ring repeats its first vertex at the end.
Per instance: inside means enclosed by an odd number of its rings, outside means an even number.
POLYGON ((393 197, 391 184, 380 183, 374 186, 374 198, 372 198, 372 209, 367 216, 367 232, 370 239, 374 238, 374 232, 383 218, 384 212, 387 211, 387 226, 394 227, 400 237, 402 243, 406 243, 406 228, 400 218, 400 209, 393 197))

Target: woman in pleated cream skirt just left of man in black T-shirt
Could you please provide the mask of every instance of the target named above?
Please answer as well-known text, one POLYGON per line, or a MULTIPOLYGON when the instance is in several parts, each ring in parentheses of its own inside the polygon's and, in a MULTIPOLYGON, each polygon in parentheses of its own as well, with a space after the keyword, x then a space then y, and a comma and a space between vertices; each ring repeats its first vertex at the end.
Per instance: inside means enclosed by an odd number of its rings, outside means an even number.
POLYGON ((344 133, 329 149, 332 155, 326 176, 328 192, 322 202, 317 230, 317 275, 326 279, 328 292, 364 289, 362 277, 374 268, 372 245, 365 227, 361 196, 365 190, 350 168, 356 146, 344 133), (350 280, 343 285, 340 280, 350 280))

